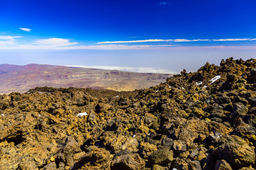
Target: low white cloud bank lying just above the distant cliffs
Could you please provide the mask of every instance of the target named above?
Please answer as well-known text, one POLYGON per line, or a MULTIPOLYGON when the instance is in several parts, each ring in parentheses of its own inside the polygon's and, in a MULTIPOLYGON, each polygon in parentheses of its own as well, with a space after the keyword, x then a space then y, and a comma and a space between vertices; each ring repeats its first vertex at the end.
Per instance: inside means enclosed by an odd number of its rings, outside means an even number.
POLYGON ((84 65, 69 65, 69 67, 85 67, 85 68, 93 68, 93 69, 120 70, 120 71, 136 72, 136 73, 178 74, 175 71, 154 68, 154 67, 84 66, 84 65))

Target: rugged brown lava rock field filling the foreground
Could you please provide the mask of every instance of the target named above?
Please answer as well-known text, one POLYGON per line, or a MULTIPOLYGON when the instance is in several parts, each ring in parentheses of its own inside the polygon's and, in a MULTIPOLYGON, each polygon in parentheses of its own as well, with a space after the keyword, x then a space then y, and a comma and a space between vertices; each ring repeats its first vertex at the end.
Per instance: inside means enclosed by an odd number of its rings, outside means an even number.
POLYGON ((133 92, 1 95, 0 169, 254 169, 254 68, 229 58, 133 92))

